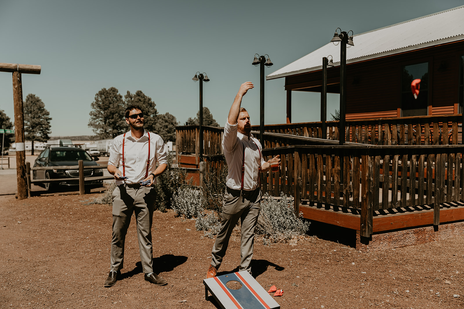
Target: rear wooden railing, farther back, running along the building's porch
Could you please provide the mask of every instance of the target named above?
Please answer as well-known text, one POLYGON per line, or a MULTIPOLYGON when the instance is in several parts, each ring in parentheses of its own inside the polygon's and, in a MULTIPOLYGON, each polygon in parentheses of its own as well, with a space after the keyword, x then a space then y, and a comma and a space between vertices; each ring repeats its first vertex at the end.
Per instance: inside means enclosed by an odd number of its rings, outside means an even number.
MULTIPOLYGON (((221 139, 224 128, 203 126, 203 153, 222 153, 221 139)), ((259 134, 259 126, 251 126, 259 134)), ((379 118, 346 121, 346 142, 370 145, 458 145, 462 144, 462 115, 419 116, 402 118, 379 118)), ((305 139, 284 139, 284 135, 322 138, 322 123, 302 122, 264 126, 264 148, 289 145, 315 145, 322 142, 305 139), (280 134, 280 136, 279 136, 280 134)), ((178 153, 199 153, 198 126, 176 127, 176 149, 178 153)), ((338 140, 338 121, 327 121, 327 140, 338 140)))

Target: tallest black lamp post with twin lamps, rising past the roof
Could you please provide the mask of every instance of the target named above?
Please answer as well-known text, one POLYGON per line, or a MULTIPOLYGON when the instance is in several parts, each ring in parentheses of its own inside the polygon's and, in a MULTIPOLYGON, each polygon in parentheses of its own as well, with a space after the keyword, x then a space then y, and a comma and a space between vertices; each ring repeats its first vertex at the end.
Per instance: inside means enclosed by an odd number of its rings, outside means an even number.
POLYGON ((334 37, 330 42, 340 42, 340 121, 339 121, 339 134, 340 134, 340 145, 343 145, 345 142, 345 111, 346 111, 346 84, 347 84, 347 75, 346 75, 346 66, 347 66, 347 47, 354 46, 353 43, 353 31, 351 31, 351 36, 348 37, 348 32, 342 31, 340 29, 340 34, 337 33, 335 29, 334 37), (348 46, 347 46, 348 45, 348 46))

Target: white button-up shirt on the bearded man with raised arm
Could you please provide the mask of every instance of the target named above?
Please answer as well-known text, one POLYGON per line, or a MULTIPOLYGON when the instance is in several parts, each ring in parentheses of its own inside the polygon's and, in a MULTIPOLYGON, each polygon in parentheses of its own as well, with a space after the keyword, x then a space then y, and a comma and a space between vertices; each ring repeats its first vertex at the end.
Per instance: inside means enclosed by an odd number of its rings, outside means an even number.
POLYGON ((222 138, 222 149, 226 157, 229 174, 226 185, 240 190, 242 186, 243 147, 245 146, 245 175, 243 189, 250 191, 258 188, 259 167, 264 163, 261 155, 261 144, 252 134, 250 137, 238 132, 238 124, 231 125, 226 121, 222 138), (261 158, 261 162, 259 160, 261 158))

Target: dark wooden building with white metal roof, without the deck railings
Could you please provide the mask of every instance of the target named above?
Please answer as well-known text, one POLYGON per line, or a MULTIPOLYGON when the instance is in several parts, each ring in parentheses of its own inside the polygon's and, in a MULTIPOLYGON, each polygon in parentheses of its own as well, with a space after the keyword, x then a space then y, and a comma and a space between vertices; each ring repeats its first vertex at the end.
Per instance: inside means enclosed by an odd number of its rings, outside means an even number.
MULTIPOLYGON (((464 6, 353 36, 347 48, 346 119, 461 114, 464 6), (348 46, 349 47, 349 46, 348 46), (414 99, 411 82, 421 79, 414 99)), ((321 92, 322 57, 329 93, 340 93, 340 46, 328 43, 275 71, 291 91, 321 92)), ((288 116, 291 119, 291 115, 288 116)))

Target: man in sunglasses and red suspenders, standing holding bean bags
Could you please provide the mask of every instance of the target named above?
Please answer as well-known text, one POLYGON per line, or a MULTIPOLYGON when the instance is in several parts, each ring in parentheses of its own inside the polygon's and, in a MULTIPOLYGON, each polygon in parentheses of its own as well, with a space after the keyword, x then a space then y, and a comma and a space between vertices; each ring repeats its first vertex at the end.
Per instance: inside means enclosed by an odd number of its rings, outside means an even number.
POLYGON ((166 170, 168 161, 164 142, 158 134, 143 128, 141 107, 131 105, 125 110, 130 131, 117 136, 110 147, 108 171, 114 175, 116 189, 113 191, 113 238, 111 240, 111 265, 105 287, 116 284, 121 276, 124 260, 124 241, 135 213, 140 259, 145 280, 164 285, 168 281, 153 271, 153 246, 151 226, 155 208, 157 176, 166 170), (156 167, 158 163, 158 167, 156 167))

